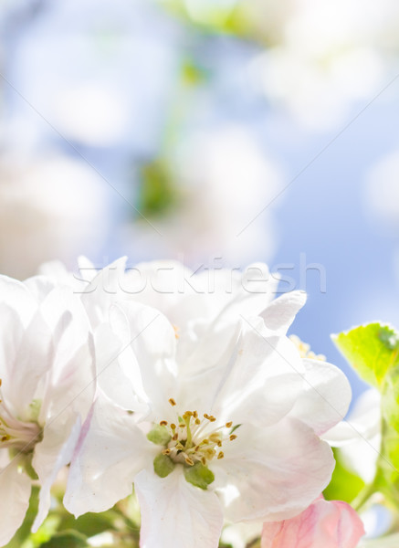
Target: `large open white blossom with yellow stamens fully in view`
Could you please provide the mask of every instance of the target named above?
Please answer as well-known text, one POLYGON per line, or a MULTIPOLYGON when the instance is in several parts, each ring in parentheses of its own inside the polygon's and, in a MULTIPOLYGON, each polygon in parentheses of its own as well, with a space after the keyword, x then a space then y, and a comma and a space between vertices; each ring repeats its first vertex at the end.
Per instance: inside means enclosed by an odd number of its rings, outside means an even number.
POLYGON ((182 329, 137 301, 111 303, 109 334, 121 339, 116 361, 129 388, 115 381, 123 398, 112 401, 112 376, 107 387, 99 379, 68 510, 104 511, 134 483, 143 547, 203 548, 217 546, 224 522, 280 520, 309 506, 333 469, 318 435, 344 416, 351 390, 285 336, 303 302, 287 294, 240 319, 227 304, 210 321, 185 318, 182 329))

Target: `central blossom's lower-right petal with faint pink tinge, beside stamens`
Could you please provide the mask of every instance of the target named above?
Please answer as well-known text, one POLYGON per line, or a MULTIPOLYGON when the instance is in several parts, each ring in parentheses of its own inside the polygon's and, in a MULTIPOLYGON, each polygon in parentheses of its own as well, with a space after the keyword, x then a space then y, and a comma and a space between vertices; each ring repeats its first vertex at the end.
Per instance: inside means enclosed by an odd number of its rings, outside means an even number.
POLYGON ((225 458, 212 461, 215 487, 233 486, 226 500, 231 522, 280 521, 305 510, 327 487, 334 458, 327 443, 292 418, 264 429, 243 425, 223 446, 225 458))

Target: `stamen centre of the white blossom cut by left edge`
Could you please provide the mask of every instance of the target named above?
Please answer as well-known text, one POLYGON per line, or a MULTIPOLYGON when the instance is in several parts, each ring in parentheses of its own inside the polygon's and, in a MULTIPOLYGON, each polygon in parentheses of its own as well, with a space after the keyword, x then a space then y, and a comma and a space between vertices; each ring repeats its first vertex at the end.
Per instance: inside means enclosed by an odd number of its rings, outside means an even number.
MULTIPOLYGON (((2 380, 0 379, 0 386, 2 380)), ((17 452, 29 453, 35 444, 40 441, 40 427, 36 418, 38 415, 37 402, 30 406, 32 421, 23 421, 16 418, 6 405, 0 390, 0 449, 10 448, 17 452)))

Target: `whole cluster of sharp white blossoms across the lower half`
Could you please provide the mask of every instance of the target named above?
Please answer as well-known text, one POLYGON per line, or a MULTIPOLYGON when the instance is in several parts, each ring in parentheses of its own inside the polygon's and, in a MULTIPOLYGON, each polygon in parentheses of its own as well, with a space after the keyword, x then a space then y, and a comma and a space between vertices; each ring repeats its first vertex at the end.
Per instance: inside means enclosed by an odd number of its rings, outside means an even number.
POLYGON ((1 277, 0 544, 32 483, 37 531, 67 465, 75 516, 134 487, 142 548, 215 548, 228 524, 261 531, 317 501, 334 468, 320 436, 351 388, 288 338, 306 295, 273 300, 277 281, 265 265, 193 274, 124 258, 1 277))

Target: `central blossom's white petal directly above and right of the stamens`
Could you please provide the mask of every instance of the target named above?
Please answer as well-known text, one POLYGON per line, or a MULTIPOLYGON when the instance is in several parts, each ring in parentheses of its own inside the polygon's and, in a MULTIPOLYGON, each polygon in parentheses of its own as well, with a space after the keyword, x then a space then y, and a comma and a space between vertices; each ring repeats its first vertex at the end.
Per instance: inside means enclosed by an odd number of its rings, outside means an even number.
POLYGON ((271 424, 289 412, 302 389, 302 361, 286 337, 263 335, 262 320, 253 321, 216 367, 184 380, 191 406, 238 424, 271 424))

